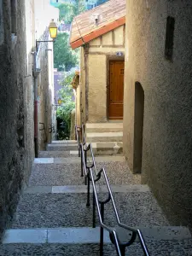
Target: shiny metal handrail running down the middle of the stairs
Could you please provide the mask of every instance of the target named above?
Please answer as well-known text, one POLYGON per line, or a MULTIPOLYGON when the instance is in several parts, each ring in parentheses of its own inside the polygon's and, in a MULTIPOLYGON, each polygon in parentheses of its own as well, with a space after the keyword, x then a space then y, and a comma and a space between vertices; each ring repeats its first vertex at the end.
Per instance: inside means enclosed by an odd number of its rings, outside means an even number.
MULTIPOLYGON (((92 145, 91 145, 91 143, 89 143, 87 145, 86 142, 85 142, 84 125, 82 125, 82 130, 81 131, 82 131, 82 141, 83 141, 82 143, 79 144, 80 153, 81 153, 81 176, 85 177, 85 184, 86 184, 86 180, 88 179, 88 183, 87 183, 87 185, 88 185, 87 207, 90 206, 90 181, 91 181, 92 185, 93 185, 93 192, 94 192, 94 195, 95 195, 96 207, 97 207, 97 212, 98 212, 98 215, 99 215, 100 225, 103 229, 108 230, 110 236, 112 236, 113 243, 116 247, 116 251, 117 251, 118 255, 119 256, 125 255, 125 247, 130 246, 136 240, 136 237, 138 236, 139 241, 141 243, 141 246, 143 248, 144 255, 149 256, 148 248, 147 248, 147 246, 145 244, 145 241, 143 239, 143 235, 142 235, 141 230, 134 229, 134 228, 132 228, 130 226, 127 226, 125 224, 122 224, 120 222, 119 213, 118 213, 117 207, 115 206, 115 202, 114 202, 114 199, 113 199, 113 193, 112 193, 112 190, 110 188, 110 184, 108 183, 108 177, 107 177, 106 171, 102 167, 102 169, 99 172, 97 172, 97 170, 96 170, 96 161, 95 161, 95 156, 93 154, 92 145), (85 146, 85 148, 84 148, 84 146, 85 146), (86 160, 88 150, 90 150, 91 158, 92 158, 92 164, 90 166, 87 166, 87 160, 86 160), (84 155, 84 152, 85 152, 85 155, 84 155), (95 170, 96 178, 94 178, 92 168, 94 168, 94 170, 95 170), (84 169, 84 174, 83 174, 83 169, 84 169), (96 194, 96 181, 101 178, 102 173, 103 173, 104 178, 105 178, 105 183, 107 184, 107 187, 108 187, 108 200, 107 201, 99 201, 98 197, 97 197, 97 194, 96 194), (110 200, 112 201, 113 212, 114 212, 116 220, 117 220, 117 225, 119 227, 125 229, 125 230, 129 230, 129 231, 132 232, 131 239, 128 242, 119 242, 117 232, 115 230, 109 228, 106 224, 103 223, 104 216, 102 216, 102 212, 100 211, 99 203, 101 204, 101 206, 102 206, 102 204, 104 206, 104 204, 106 202, 110 201, 110 200)), ((78 137, 78 133, 77 133, 77 137, 78 137)), ((93 211, 95 211, 94 207, 93 207, 93 211)), ((104 207, 103 207, 103 215, 104 215, 104 207)), ((93 226, 95 226, 95 224, 93 224, 93 226)), ((102 233, 102 236, 103 236, 103 233, 102 233)), ((103 242, 103 237, 102 237, 102 242, 103 242)))

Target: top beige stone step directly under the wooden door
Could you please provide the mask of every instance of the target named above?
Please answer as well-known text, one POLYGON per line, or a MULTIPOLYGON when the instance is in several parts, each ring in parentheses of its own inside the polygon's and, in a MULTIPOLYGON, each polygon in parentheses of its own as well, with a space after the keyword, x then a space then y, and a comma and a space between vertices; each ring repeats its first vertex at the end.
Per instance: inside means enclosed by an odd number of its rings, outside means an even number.
POLYGON ((86 132, 118 132, 123 131, 123 123, 87 123, 86 132))

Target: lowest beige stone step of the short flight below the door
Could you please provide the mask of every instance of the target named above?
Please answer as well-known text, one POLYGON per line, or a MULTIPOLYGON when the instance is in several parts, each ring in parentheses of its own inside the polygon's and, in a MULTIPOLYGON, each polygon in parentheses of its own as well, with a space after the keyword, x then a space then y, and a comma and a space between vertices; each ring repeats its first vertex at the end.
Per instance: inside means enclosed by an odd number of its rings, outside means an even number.
POLYGON ((115 155, 123 154, 123 143, 108 142, 108 143, 91 143, 94 155, 115 155))

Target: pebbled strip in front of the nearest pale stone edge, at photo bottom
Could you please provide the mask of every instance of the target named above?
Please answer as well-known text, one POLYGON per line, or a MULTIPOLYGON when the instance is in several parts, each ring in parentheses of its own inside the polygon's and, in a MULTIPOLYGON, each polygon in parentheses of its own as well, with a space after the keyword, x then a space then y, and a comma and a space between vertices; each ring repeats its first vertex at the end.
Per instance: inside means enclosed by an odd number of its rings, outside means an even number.
MULTIPOLYGON (((147 241, 148 251, 153 256, 191 256, 190 241, 147 241), (184 247, 183 247, 184 246, 184 247)), ((0 246, 0 256, 99 256, 99 245, 96 244, 13 244, 0 246)), ((114 256, 117 253, 113 245, 104 245, 103 256, 114 256)), ((127 256, 143 255, 139 244, 126 248, 127 256)))

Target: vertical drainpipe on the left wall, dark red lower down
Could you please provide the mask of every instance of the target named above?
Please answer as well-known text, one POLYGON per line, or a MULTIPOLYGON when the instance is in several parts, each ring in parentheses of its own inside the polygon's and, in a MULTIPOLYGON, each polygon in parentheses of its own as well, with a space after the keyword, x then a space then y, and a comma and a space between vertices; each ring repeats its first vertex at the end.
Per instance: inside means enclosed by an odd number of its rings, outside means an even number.
POLYGON ((33 77, 34 77, 34 144, 35 144, 35 157, 38 158, 38 75, 41 72, 37 68, 36 61, 37 53, 34 53, 33 77))

